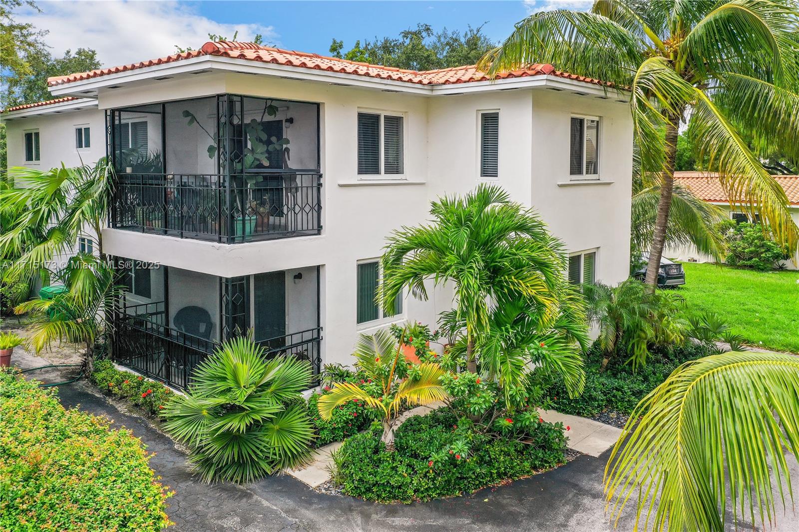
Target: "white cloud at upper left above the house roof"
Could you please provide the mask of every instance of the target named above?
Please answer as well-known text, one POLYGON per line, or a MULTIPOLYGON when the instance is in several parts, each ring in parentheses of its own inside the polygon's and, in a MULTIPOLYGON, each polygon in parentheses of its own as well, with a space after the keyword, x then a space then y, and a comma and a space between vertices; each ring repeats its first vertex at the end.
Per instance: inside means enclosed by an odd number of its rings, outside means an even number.
POLYGON ((249 41, 256 34, 277 44, 272 26, 222 24, 178 2, 39 2, 42 13, 21 11, 18 18, 49 30, 55 55, 93 48, 103 66, 125 65, 175 53, 175 45, 199 48, 208 34, 249 41))

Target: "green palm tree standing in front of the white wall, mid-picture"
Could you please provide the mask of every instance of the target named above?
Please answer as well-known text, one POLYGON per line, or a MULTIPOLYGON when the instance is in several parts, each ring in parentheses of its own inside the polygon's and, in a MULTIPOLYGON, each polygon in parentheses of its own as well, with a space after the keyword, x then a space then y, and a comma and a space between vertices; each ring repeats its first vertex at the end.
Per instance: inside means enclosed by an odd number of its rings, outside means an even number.
POLYGON ((475 340, 490 327, 492 308, 529 300, 557 315, 568 283, 560 240, 530 209, 495 185, 432 202, 433 224, 388 237, 378 300, 392 308, 403 288, 427 299, 425 281, 455 288, 455 317, 467 337, 467 369, 477 371, 475 340))

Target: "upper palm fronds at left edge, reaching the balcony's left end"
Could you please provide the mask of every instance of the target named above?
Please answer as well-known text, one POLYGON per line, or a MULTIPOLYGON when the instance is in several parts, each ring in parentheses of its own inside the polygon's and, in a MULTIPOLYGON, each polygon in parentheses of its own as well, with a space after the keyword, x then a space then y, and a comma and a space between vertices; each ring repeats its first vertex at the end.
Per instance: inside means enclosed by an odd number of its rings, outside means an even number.
POLYGON ((0 210, 7 221, 0 257, 10 258, 4 279, 44 274, 44 264, 55 256, 73 254, 78 236, 96 237, 94 248, 105 257, 102 228, 113 178, 105 158, 93 166, 12 168, 9 173, 22 186, 0 189, 0 210))

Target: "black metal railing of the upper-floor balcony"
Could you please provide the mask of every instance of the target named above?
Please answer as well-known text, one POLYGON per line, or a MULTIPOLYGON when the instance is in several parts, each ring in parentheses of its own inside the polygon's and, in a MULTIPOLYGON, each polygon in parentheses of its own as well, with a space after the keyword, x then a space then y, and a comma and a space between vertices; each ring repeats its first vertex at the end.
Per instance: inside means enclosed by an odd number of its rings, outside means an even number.
POLYGON ((111 226, 225 243, 319 234, 320 173, 120 173, 111 226))

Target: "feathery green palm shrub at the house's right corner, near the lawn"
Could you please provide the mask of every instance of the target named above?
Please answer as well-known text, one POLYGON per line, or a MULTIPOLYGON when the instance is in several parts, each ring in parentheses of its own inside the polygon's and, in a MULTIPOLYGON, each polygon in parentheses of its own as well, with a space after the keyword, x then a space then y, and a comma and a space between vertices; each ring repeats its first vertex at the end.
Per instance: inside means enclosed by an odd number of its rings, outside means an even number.
POLYGON ((629 279, 616 287, 586 284, 587 316, 598 328, 604 371, 617 353, 630 355, 633 367, 645 364, 651 344, 679 343, 686 327, 678 318, 682 297, 674 292, 654 292, 641 281, 629 279))

